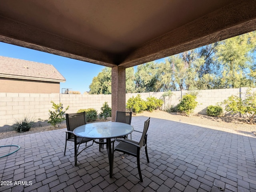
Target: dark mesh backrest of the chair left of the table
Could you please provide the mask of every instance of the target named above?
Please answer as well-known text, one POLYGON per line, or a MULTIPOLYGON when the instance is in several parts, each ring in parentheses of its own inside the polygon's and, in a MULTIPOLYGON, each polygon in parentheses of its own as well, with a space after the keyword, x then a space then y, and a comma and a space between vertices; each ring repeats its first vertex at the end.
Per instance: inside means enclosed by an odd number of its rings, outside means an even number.
MULTIPOLYGON (((76 114, 66 114, 66 124, 68 131, 74 131, 76 127, 86 124, 85 112, 76 114)), ((74 134, 68 134, 68 139, 74 137, 74 134)))

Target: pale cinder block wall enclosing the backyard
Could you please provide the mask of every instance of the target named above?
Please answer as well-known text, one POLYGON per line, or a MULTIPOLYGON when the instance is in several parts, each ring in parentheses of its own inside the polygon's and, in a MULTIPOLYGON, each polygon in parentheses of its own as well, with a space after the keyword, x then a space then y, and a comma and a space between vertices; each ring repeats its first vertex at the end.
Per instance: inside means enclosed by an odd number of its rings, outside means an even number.
MULTIPOLYGON (((231 95, 238 95, 245 92, 247 88, 236 89, 214 89, 214 90, 198 90, 197 102, 194 113, 206 114, 206 108, 209 105, 216 105, 231 95)), ((253 91, 256 89, 254 88, 253 91)), ((182 95, 188 91, 182 91, 182 95)), ((138 93, 126 94, 126 102, 138 93)), ((148 92, 140 93, 141 98, 146 100, 147 97, 154 96, 163 99, 164 92, 148 92)), ((180 91, 172 92, 170 101, 165 98, 165 106, 168 104, 176 105, 181 98, 180 91)), ((52 108, 51 101, 62 103, 63 107, 70 106, 67 113, 76 113, 79 109, 94 108, 100 113, 100 108, 104 102, 108 102, 111 107, 111 95, 81 95, 81 94, 38 94, 38 93, 0 93, 0 132, 7 130, 13 125, 15 119, 23 119, 24 117, 34 118, 38 120, 46 120, 49 118, 49 112, 52 108)))

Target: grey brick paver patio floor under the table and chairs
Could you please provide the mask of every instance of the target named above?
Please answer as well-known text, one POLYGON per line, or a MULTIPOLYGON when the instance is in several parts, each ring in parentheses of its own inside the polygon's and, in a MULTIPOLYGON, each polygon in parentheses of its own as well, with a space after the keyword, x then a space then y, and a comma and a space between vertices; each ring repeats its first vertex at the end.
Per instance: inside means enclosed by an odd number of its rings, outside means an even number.
MULTIPOLYGON (((146 118, 132 117, 131 125, 142 131, 146 118)), ((136 134, 132 133, 134 140, 140 136, 136 134)), ((0 191, 256 192, 252 133, 151 118, 150 163, 145 153, 140 160, 143 182, 136 158, 121 153, 115 153, 114 175, 109 178, 106 149, 99 152, 96 143, 81 153, 74 166, 73 143, 68 143, 64 156, 64 137, 59 129, 1 139, 1 146, 19 145, 20 149, 0 159, 0 191)))

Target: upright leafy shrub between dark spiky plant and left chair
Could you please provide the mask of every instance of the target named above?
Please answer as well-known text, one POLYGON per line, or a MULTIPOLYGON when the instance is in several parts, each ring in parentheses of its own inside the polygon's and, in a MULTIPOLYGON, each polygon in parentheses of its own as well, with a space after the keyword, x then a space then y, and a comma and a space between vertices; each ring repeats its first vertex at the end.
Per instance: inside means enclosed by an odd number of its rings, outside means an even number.
POLYGON ((54 109, 54 111, 49 110, 50 117, 49 117, 48 123, 50 123, 52 126, 56 127, 57 123, 60 123, 64 120, 66 120, 65 112, 66 112, 66 110, 68 110, 69 106, 67 106, 65 111, 63 111, 62 103, 55 104, 53 101, 51 101, 51 103, 52 103, 52 108, 54 109))

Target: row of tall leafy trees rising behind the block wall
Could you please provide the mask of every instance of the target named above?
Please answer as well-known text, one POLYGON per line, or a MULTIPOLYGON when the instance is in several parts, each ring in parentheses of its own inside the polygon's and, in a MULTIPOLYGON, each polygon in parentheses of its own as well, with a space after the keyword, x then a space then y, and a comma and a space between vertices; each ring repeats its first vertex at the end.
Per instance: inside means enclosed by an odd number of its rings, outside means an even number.
MULTIPOLYGON (((126 92, 256 86, 256 31, 126 70, 126 92)), ((111 94, 111 69, 93 78, 90 94, 111 94)))

